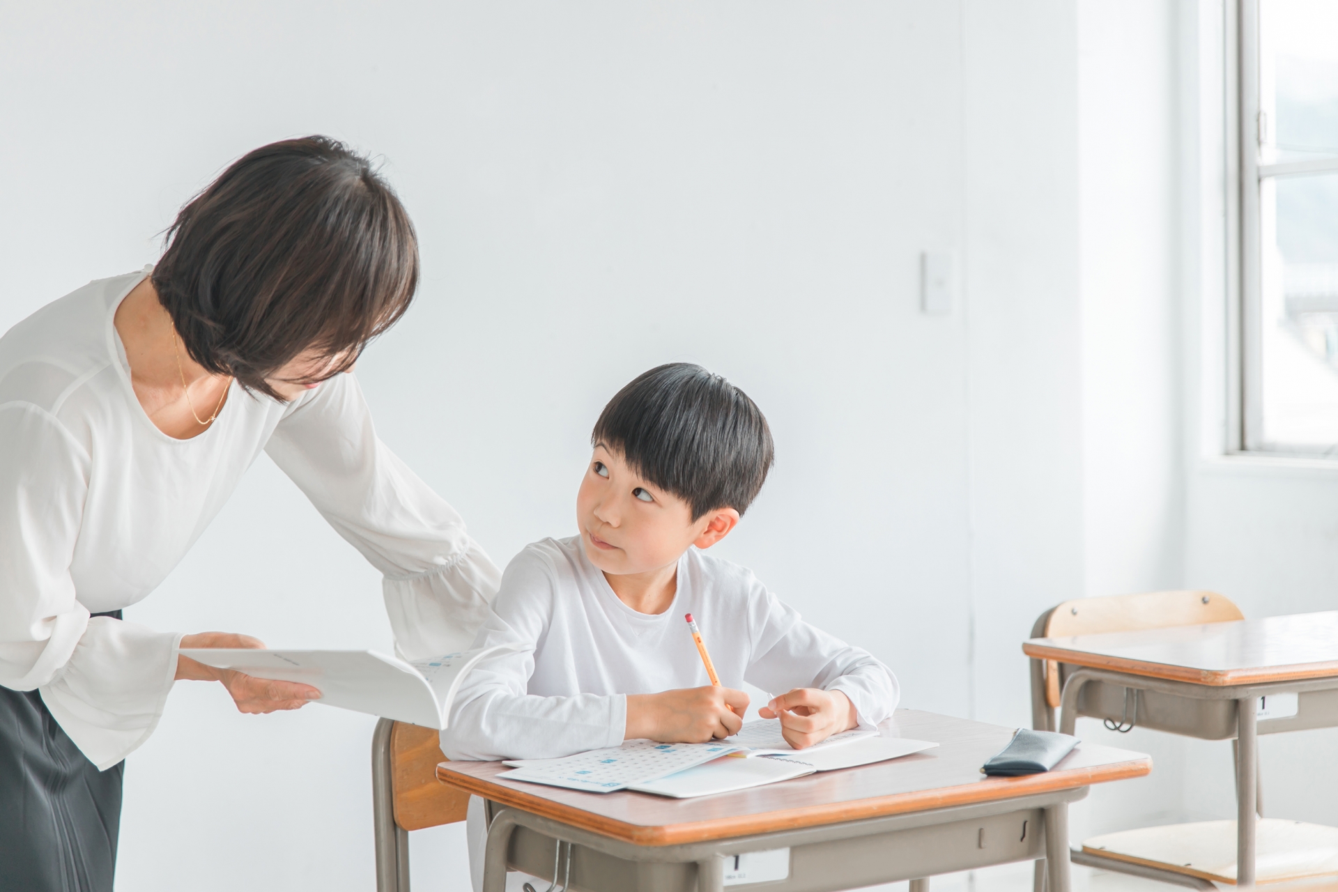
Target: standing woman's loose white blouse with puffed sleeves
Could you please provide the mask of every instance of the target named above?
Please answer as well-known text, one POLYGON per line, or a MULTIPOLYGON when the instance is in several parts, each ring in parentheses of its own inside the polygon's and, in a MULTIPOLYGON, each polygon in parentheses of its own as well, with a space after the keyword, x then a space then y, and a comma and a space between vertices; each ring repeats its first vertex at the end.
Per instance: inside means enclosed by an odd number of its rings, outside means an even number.
POLYGON ((99 769, 153 733, 181 634, 88 614, 153 591, 261 449, 384 574, 403 657, 467 647, 500 580, 376 437, 352 374, 286 405, 234 382, 199 436, 155 428, 112 325, 149 273, 91 282, 0 338, 0 685, 37 689, 99 769))

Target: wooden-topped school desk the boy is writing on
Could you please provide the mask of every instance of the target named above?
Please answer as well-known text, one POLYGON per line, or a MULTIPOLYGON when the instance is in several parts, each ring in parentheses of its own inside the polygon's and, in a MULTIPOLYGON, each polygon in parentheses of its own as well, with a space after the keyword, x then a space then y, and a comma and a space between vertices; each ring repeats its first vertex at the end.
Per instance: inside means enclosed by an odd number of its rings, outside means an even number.
MULTIPOLYGON (((788 879, 767 883, 768 892, 1037 859, 1049 861, 1052 892, 1068 892, 1068 804, 1090 784, 1152 770, 1141 753, 1082 744, 1049 773, 985 777, 981 765, 1013 729, 898 710, 884 733, 939 746, 690 800, 507 781, 500 762, 443 762, 438 777, 488 802, 484 892, 504 888, 508 867, 551 877, 557 840, 574 844, 570 881, 590 892, 721 892, 727 859, 776 849, 789 849, 788 879)), ((565 867, 559 875, 561 885, 565 867)))

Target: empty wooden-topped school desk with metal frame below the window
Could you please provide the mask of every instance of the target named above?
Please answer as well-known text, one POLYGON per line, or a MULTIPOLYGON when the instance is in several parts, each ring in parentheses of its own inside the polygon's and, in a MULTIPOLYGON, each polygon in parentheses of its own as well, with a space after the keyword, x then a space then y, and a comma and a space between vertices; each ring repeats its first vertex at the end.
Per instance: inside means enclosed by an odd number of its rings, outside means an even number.
MULTIPOLYGON (((1121 869, 1111 864, 1111 859, 1120 859, 1145 865, 1131 872, 1144 876, 1161 872, 1157 879, 1169 881, 1176 881, 1176 873, 1181 875, 1180 881, 1199 877, 1203 888, 1211 888, 1204 881, 1208 879, 1254 885, 1298 876, 1295 869, 1288 873, 1286 868, 1270 868, 1266 876, 1256 873, 1258 734, 1338 725, 1338 611, 1033 638, 1022 650, 1033 659, 1058 662, 1064 685, 1060 730, 1065 733, 1073 733, 1078 715, 1093 715, 1203 740, 1238 740, 1234 875, 1198 871, 1184 864, 1184 859, 1167 863, 1139 857, 1132 851, 1115 855, 1085 851, 1084 864, 1105 861, 1103 867, 1121 869), (1293 694, 1298 699, 1288 702, 1293 694), (1256 715, 1260 697, 1267 711, 1256 715), (1284 707, 1270 706, 1270 699, 1284 707), (1293 709, 1294 714, 1270 717, 1293 709)), ((1305 826, 1311 837, 1330 829, 1305 826)), ((1155 849, 1160 840, 1164 848, 1173 833, 1173 828, 1149 829, 1141 845, 1155 849)), ((1338 829, 1333 833, 1338 839, 1338 829)), ((1284 837, 1286 833, 1279 836, 1270 828, 1270 847, 1282 847, 1268 852, 1270 861, 1297 864, 1298 859, 1284 851, 1288 845, 1284 837)), ((1313 839, 1298 841, 1302 843, 1314 845, 1313 839)), ((1136 841, 1135 849, 1137 845, 1136 841)), ((1318 869, 1322 867, 1311 865, 1310 875, 1333 872, 1318 869)))

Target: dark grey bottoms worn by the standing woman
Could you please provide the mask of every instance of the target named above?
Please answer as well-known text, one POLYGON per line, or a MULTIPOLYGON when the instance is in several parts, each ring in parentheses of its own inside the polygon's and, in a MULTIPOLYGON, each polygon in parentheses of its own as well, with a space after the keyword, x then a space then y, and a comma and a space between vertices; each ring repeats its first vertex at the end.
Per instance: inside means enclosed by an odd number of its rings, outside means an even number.
POLYGON ((111 892, 124 770, 99 772, 37 691, 0 687, 0 889, 111 892))

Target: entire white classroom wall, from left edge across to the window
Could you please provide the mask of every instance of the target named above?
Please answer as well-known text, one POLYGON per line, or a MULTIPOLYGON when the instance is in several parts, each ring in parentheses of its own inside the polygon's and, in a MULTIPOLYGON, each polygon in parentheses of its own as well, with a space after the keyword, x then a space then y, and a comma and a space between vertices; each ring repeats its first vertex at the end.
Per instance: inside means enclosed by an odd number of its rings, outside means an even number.
MULTIPOLYGON (((603 401, 698 361, 779 447, 721 552, 887 661, 904 705, 1022 725, 1020 642, 1058 600, 1193 584, 1262 615, 1331 591, 1338 477, 1199 460, 1181 308, 1211 250, 1176 246, 1203 229, 1184 183, 1212 187, 1184 126, 1212 5, 8 3, 0 328, 151 262, 248 148, 348 139, 424 259, 359 377, 499 563, 570 532, 603 401), (949 317, 918 312, 925 249, 959 258, 949 317)), ((389 638, 375 572, 265 459, 130 617, 389 638)), ((369 888, 371 728, 179 685, 128 762, 119 888, 369 888)), ((1220 810, 1220 748, 1080 733, 1159 770, 1077 832, 1220 810)), ((459 830, 413 834, 416 884, 464 888, 459 830)))

